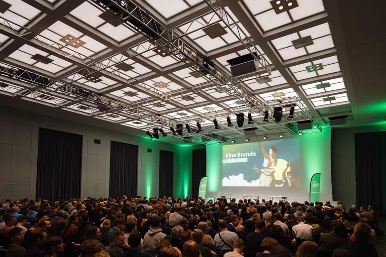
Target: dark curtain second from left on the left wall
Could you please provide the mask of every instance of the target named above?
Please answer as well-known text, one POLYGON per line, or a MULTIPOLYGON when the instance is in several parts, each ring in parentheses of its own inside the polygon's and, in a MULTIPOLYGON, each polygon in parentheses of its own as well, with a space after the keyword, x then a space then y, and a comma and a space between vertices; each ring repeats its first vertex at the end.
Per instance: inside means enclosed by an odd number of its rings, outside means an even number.
POLYGON ((111 142, 110 197, 136 196, 138 178, 138 146, 111 142))

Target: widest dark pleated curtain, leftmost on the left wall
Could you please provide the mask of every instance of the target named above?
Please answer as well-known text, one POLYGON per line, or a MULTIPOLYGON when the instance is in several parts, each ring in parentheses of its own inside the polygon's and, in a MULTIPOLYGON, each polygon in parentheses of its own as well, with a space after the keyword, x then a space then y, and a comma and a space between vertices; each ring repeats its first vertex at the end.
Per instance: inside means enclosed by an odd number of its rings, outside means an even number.
POLYGON ((80 197, 82 136, 39 128, 36 197, 80 197))

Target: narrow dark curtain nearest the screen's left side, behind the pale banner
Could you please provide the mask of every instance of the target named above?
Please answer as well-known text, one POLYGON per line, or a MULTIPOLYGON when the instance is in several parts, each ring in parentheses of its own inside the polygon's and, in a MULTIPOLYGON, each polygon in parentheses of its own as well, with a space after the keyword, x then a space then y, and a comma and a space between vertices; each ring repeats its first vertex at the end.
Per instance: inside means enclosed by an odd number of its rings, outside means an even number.
POLYGON ((207 176, 207 150, 192 151, 191 190, 192 197, 199 197, 200 180, 207 176))

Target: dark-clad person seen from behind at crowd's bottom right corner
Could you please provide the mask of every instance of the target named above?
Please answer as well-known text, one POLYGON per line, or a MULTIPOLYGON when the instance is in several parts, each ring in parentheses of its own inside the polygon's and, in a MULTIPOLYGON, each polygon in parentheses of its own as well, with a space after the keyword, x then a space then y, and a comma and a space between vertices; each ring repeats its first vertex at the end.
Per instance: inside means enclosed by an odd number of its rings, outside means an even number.
POLYGON ((369 237, 368 230, 359 228, 354 232, 354 240, 343 244, 340 248, 348 250, 352 257, 377 257, 378 253, 374 246, 368 243, 369 237))

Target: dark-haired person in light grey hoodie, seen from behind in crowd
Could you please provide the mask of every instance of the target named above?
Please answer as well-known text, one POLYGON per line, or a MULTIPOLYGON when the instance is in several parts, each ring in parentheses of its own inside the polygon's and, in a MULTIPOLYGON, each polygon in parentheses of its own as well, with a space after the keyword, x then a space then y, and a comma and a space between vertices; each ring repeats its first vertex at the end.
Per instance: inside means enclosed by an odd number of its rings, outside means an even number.
POLYGON ((143 238, 143 251, 155 256, 155 247, 165 238, 166 234, 162 232, 161 218, 152 217, 150 220, 150 229, 143 238))

